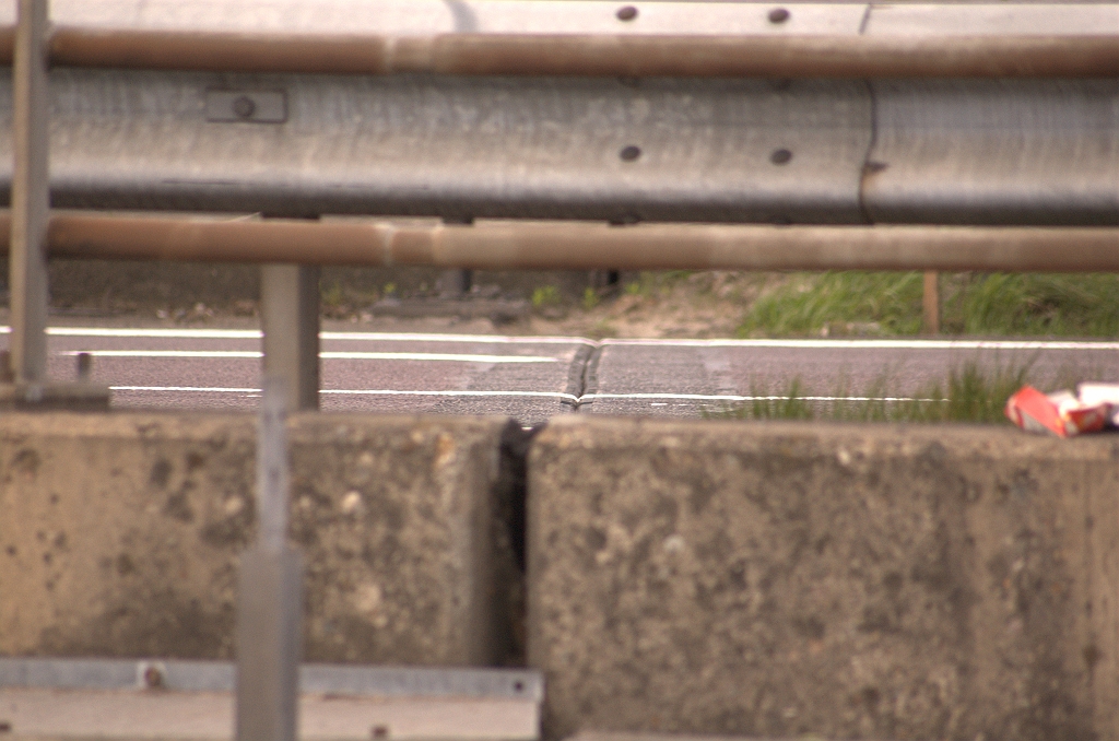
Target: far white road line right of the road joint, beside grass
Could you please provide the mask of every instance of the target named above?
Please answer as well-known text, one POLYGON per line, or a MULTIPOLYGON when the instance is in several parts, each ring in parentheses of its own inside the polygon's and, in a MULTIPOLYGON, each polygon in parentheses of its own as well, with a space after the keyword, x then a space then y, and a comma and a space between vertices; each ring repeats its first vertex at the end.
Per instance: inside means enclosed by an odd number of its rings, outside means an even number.
POLYGON ((604 339, 609 346, 648 347, 791 347, 806 349, 913 350, 1119 350, 1113 341, 1031 339, 604 339))

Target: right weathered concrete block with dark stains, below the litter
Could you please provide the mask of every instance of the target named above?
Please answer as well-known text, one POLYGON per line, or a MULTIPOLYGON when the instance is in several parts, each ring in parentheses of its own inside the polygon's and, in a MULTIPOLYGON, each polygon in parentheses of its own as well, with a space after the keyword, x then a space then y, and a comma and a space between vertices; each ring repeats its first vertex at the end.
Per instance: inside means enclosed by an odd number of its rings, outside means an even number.
POLYGON ((546 733, 1119 739, 1119 437, 572 418, 528 459, 546 733))

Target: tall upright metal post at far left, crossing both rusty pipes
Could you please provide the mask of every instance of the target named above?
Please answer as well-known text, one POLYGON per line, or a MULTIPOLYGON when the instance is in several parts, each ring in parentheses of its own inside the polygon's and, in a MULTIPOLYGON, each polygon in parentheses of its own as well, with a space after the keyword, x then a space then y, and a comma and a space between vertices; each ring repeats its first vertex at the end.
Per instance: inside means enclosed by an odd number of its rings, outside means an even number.
POLYGON ((50 181, 47 148, 50 109, 47 81, 47 0, 19 0, 12 64, 11 374, 38 384, 47 374, 47 219, 50 181))

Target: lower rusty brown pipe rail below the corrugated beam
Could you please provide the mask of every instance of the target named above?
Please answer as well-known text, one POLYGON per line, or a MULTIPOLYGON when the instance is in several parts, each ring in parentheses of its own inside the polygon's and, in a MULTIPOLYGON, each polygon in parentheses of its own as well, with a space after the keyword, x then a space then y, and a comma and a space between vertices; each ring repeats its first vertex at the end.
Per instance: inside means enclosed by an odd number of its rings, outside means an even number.
MULTIPOLYGON (((0 215, 7 251, 9 216, 0 215)), ((493 222, 474 226, 56 212, 51 257, 478 270, 1119 272, 1117 227, 493 222)))

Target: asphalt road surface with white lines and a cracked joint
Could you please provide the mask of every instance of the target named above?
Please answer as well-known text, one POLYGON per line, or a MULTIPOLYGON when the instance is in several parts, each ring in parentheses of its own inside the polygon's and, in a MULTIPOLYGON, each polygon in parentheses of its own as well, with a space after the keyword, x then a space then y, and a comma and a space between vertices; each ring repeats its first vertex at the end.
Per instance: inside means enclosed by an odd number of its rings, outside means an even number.
MULTIPOLYGON (((0 344, 7 344, 7 330, 0 344)), ((255 330, 51 327, 49 374, 93 378, 113 406, 255 409, 255 330)), ((698 418, 754 396, 919 394, 967 363, 1029 365, 1042 386, 1119 382, 1119 341, 817 339, 629 340, 323 332, 323 411, 501 414, 530 425, 557 414, 698 418)))

